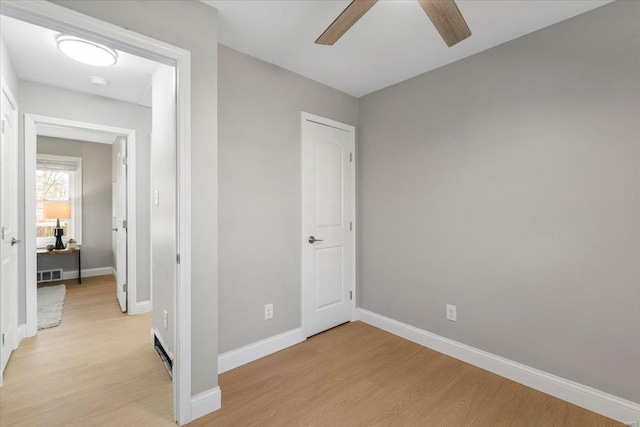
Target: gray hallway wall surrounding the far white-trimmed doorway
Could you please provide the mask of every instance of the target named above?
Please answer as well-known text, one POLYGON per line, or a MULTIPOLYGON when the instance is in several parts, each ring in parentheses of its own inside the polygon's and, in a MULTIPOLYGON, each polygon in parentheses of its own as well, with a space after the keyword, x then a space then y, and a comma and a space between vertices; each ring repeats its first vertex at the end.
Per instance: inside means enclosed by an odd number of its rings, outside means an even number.
MULTIPOLYGON (((24 129, 24 114, 38 114, 81 122, 136 130, 136 233, 137 300, 148 301, 149 287, 149 152, 151 134, 151 109, 130 102, 117 101, 86 93, 20 80, 20 129, 24 129)), ((24 135, 20 132, 20 164, 24 164, 24 135)), ((107 171, 109 177, 111 172, 107 171)), ((24 172, 20 171, 20 197, 24 199, 24 172)), ((20 206, 24 206, 21 200, 20 206)), ((20 229, 24 230, 24 215, 20 214, 20 229)), ((84 260, 83 252, 83 260, 84 260)), ((24 258, 19 269, 21 279, 19 307, 20 322, 25 322, 24 258)), ((104 267, 104 266, 102 266, 104 267)), ((88 267, 85 267, 88 268, 88 267)))

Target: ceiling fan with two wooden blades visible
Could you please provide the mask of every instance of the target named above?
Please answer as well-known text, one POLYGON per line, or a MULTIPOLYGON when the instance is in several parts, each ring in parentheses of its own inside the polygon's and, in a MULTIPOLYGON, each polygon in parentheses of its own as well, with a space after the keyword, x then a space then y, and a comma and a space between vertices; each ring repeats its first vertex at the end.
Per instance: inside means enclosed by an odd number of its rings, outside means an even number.
MULTIPOLYGON (((316 44, 332 45, 337 42, 377 2, 378 0, 353 0, 318 37, 316 44)), ((447 46, 451 47, 471 35, 471 30, 454 0, 418 0, 418 2, 447 46)))

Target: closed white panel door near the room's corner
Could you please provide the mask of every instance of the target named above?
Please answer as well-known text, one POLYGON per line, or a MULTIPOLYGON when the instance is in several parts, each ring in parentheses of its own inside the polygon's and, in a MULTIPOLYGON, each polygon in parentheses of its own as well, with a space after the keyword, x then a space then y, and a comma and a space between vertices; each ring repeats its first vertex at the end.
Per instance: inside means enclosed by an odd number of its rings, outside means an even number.
POLYGON ((304 266, 307 336, 351 319, 352 126, 303 116, 304 266))

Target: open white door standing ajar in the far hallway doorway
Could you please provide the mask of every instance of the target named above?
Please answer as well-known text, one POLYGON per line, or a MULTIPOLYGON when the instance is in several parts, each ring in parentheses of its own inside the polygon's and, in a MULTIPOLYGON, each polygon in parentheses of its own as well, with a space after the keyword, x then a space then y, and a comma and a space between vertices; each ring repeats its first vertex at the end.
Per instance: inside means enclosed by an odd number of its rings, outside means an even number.
POLYGON ((119 137, 113 144, 116 167, 113 189, 115 204, 116 282, 118 302, 127 311, 127 139, 119 137))

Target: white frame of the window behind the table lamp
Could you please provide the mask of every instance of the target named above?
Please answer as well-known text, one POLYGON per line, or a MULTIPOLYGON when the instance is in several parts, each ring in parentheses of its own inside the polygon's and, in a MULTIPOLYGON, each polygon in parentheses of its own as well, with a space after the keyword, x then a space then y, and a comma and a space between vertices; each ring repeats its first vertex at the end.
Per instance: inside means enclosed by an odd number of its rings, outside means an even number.
MULTIPOLYGON (((78 246, 82 245, 82 157, 57 156, 53 154, 37 154, 36 163, 39 160, 50 160, 51 162, 75 163, 76 169, 69 171, 69 199, 71 202, 71 228, 73 235, 62 236, 62 242, 66 245, 71 238, 75 239, 78 246)), ((36 170, 42 170, 36 168, 36 170)), ((36 194, 36 203, 37 199, 36 194)), ((54 245, 56 238, 37 237, 36 247, 44 248, 47 245, 54 245)))

